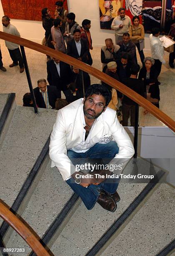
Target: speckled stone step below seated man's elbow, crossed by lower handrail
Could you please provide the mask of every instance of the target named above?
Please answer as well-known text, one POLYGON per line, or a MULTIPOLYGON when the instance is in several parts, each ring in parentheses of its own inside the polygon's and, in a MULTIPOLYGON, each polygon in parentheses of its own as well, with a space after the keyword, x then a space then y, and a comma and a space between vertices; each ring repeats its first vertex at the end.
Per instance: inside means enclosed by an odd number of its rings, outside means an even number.
MULTIPOLYGON (((57 168, 50 168, 49 162, 22 215, 23 220, 41 238, 72 194, 72 189, 63 182, 57 168)), ((15 231, 7 243, 7 247, 14 248, 14 246, 25 248, 25 253, 20 254, 21 256, 31 252, 31 248, 15 231)))

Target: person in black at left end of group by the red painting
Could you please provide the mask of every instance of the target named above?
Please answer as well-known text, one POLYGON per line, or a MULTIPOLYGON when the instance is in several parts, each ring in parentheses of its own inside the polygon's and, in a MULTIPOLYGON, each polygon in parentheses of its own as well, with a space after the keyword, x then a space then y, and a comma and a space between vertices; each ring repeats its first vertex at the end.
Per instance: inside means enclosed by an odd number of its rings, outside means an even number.
POLYGON ((42 11, 42 27, 45 29, 45 40, 46 46, 55 49, 52 41, 51 28, 53 26, 53 19, 50 16, 50 11, 48 8, 43 8, 42 11))

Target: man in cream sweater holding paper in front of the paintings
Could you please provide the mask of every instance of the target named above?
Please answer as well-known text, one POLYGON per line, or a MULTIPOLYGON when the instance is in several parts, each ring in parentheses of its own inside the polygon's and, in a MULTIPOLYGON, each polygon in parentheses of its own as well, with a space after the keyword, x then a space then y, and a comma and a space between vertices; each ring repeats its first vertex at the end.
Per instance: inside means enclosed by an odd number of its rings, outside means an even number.
POLYGON ((120 15, 114 18, 111 25, 111 29, 115 30, 115 44, 122 41, 123 34, 128 32, 131 26, 131 19, 125 15, 125 8, 120 8, 118 12, 120 15))

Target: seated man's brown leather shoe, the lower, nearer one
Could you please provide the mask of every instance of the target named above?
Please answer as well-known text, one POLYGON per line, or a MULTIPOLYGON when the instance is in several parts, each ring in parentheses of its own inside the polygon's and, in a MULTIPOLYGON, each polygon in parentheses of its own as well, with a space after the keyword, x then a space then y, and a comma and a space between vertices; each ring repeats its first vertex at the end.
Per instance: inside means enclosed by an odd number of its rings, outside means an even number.
POLYGON ((105 195, 103 192, 100 192, 97 202, 107 211, 115 212, 117 209, 115 201, 111 197, 105 195))

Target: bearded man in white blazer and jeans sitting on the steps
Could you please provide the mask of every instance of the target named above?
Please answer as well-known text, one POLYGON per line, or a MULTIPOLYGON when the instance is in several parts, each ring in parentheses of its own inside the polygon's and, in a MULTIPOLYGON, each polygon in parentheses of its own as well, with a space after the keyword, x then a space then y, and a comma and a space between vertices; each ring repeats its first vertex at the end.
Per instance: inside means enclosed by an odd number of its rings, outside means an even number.
POLYGON ((105 86, 91 85, 84 99, 58 111, 50 137, 52 167, 57 166, 63 179, 81 197, 88 210, 96 202, 105 210, 116 210, 116 202, 120 200, 116 192, 120 178, 105 175, 112 173, 110 168, 106 169, 106 164, 128 161, 134 154, 133 144, 120 125, 116 112, 107 108, 110 100, 111 92, 105 86), (101 170, 97 165, 99 159, 103 163, 101 170), (81 165, 83 161, 84 167, 81 165))

